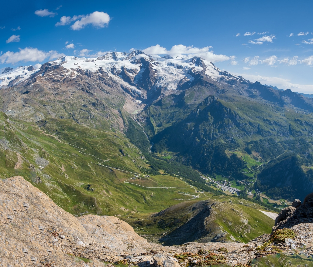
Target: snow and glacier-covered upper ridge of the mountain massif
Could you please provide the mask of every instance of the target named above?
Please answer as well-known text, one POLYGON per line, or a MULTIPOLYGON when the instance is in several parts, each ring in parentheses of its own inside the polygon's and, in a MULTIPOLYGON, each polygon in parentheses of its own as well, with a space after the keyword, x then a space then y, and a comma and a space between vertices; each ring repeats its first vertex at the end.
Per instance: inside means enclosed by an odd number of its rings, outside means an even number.
POLYGON ((6 68, 0 74, 0 87, 23 86, 39 76, 58 81, 67 77, 75 79, 88 72, 98 76, 105 73, 107 78, 141 100, 147 98, 147 95, 154 95, 155 100, 164 93, 190 87, 199 78, 232 86, 247 83, 242 77, 221 71, 212 62, 199 57, 162 58, 135 50, 131 53, 106 53, 98 58, 66 56, 47 62, 39 69, 34 69, 33 66, 6 68), (148 91, 151 92, 147 93, 148 91))

